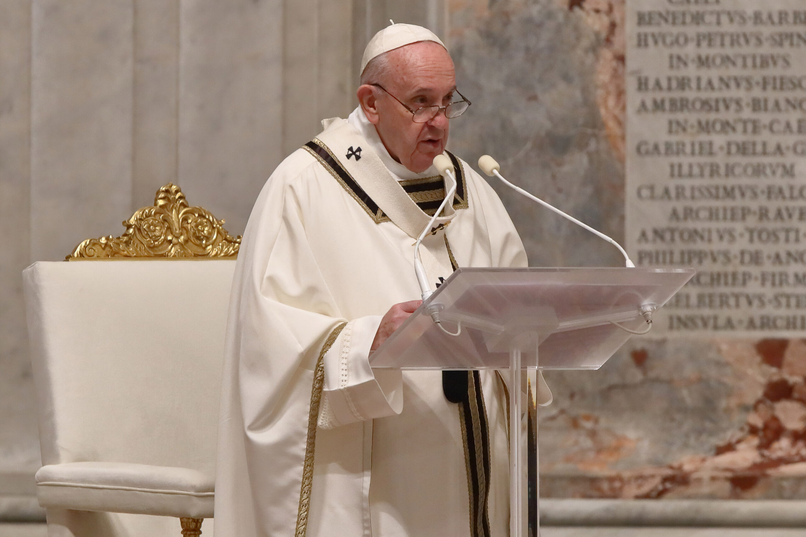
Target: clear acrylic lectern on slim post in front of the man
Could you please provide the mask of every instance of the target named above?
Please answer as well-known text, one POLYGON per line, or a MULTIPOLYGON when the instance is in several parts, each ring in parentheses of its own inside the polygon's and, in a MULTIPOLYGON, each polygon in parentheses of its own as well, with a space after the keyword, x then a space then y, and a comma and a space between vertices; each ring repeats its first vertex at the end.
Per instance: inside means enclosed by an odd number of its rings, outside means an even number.
POLYGON ((693 269, 459 268, 372 353, 370 365, 509 369, 509 535, 538 537, 538 369, 599 369, 632 335, 628 330, 646 327, 643 313, 666 304, 692 275, 693 269))

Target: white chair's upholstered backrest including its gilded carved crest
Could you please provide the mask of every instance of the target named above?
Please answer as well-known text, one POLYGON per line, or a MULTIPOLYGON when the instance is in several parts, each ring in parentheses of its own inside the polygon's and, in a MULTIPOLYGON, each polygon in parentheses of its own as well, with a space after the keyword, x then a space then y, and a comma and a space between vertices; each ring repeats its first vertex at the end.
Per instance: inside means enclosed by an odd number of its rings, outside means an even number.
POLYGON ((182 217, 168 205, 140 209, 122 237, 82 242, 69 258, 131 258, 145 247, 185 260, 36 262, 23 273, 44 465, 132 462, 215 475, 239 238, 199 208, 185 202, 182 217))

